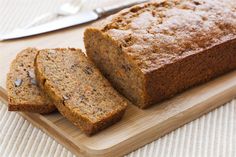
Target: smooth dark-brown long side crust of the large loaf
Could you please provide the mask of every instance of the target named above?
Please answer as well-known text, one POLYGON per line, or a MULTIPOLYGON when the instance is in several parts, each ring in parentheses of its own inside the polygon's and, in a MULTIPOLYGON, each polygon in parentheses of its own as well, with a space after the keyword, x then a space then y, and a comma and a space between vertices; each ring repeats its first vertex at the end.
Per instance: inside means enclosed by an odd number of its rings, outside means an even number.
POLYGON ((146 108, 235 68, 236 39, 178 59, 145 74, 147 99, 141 107, 146 108))

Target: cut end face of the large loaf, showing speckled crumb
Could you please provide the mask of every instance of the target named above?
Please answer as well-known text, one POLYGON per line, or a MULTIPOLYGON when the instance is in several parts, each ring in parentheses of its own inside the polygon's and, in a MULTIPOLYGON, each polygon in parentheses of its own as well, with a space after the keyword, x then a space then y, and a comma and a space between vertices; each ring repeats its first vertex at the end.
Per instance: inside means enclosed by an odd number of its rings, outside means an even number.
POLYGON ((123 52, 120 43, 96 28, 84 33, 86 53, 112 85, 135 105, 146 104, 145 79, 132 58, 123 52))

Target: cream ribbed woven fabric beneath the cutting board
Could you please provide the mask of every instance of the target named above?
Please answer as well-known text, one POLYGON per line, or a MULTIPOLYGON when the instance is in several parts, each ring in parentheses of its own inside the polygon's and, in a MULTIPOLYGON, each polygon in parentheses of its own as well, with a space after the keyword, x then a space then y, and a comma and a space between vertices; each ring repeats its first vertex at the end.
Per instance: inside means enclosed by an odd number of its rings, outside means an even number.
MULTIPOLYGON (((103 2, 87 0, 83 10, 103 2)), ((0 34, 23 27, 66 0, 0 0, 0 34)), ((103 4, 104 5, 104 4, 103 4)), ((235 157, 236 100, 130 153, 127 157, 235 157)), ((122 150, 120 150, 122 151, 122 150)), ((0 102, 0 156, 72 157, 73 153, 0 102)))

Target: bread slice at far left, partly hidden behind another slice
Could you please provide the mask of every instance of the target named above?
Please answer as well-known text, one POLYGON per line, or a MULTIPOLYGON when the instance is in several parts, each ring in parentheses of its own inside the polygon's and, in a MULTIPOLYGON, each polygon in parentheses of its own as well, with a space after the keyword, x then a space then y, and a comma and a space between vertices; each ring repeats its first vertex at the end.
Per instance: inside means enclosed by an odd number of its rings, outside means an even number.
POLYGON ((20 52, 7 75, 8 110, 50 113, 56 108, 37 86, 34 59, 37 50, 28 48, 20 52))

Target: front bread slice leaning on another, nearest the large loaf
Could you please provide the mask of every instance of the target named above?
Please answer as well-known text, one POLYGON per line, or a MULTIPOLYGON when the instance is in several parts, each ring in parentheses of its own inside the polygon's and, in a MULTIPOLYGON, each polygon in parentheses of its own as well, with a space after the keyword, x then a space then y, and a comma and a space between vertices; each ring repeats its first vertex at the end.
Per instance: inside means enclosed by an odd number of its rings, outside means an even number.
POLYGON ((87 135, 117 122, 127 107, 79 49, 40 50, 36 78, 59 112, 87 135))

